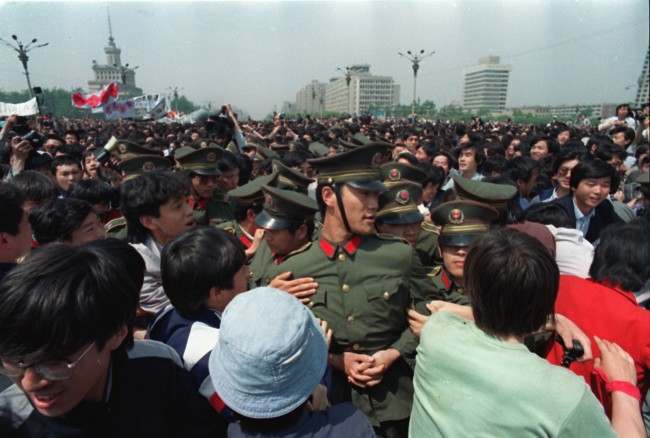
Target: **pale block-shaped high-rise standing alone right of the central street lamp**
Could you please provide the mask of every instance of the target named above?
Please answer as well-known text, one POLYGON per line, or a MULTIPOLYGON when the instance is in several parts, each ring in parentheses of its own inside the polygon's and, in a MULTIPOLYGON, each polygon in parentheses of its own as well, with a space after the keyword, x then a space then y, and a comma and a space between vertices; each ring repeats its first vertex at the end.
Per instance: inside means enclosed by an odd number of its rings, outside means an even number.
POLYGON ((506 107, 511 67, 499 64, 498 56, 486 56, 478 65, 463 70, 463 107, 501 111, 506 107))

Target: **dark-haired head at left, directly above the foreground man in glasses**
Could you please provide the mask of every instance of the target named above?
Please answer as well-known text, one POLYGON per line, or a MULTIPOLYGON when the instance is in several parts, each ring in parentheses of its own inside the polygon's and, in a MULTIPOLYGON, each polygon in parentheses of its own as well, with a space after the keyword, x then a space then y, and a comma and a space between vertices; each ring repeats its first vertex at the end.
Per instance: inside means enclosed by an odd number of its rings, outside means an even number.
POLYGON ((80 199, 53 199, 29 214, 34 240, 39 245, 65 242, 82 245, 106 237, 93 206, 80 199))

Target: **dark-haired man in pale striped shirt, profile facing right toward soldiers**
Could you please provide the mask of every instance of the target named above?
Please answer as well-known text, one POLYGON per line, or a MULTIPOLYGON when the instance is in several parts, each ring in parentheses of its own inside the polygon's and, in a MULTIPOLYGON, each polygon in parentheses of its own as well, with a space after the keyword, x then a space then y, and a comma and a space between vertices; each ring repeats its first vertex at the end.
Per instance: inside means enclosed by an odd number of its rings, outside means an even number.
POLYGON ((176 236, 194 227, 187 202, 189 188, 179 175, 153 171, 122 184, 121 210, 127 222, 127 239, 146 263, 140 307, 146 327, 153 315, 169 304, 160 278, 160 251, 176 236))

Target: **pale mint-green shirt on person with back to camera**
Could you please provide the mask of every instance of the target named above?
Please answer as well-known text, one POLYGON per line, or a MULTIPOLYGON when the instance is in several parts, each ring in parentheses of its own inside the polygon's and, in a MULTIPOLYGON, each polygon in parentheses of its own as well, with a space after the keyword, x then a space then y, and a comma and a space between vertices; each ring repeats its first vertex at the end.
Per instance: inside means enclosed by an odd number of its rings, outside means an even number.
POLYGON ((409 437, 613 437, 584 380, 440 312, 417 349, 409 437))

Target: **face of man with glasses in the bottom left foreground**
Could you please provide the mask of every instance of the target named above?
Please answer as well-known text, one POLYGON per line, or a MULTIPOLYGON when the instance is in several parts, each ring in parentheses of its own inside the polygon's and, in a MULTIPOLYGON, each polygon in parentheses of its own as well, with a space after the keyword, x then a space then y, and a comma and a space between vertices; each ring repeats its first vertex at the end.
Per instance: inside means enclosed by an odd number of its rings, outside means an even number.
POLYGON ((33 368, 28 368, 15 383, 29 397, 36 410, 47 417, 62 416, 84 400, 100 401, 104 395, 111 352, 119 346, 116 342, 112 338, 101 351, 95 345, 86 351, 89 347, 86 345, 69 357, 62 358, 71 363, 83 355, 69 379, 48 380, 33 368))

